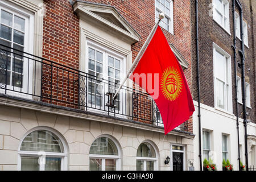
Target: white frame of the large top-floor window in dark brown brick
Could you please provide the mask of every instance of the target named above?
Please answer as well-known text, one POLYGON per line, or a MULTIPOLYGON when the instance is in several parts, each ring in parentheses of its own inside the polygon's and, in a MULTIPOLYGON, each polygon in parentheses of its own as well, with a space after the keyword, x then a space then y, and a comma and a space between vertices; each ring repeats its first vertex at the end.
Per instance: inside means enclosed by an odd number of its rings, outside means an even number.
POLYGON ((213 20, 214 22, 216 22, 219 26, 221 26, 229 35, 230 34, 230 26, 229 26, 229 2, 227 0, 220 0, 222 7, 225 6, 225 12, 227 14, 224 13, 224 9, 223 12, 221 12, 220 10, 217 9, 215 2, 214 1, 219 1, 219 0, 213 0, 212 1, 212 5, 213 5, 213 20), (216 19, 216 14, 220 14, 221 15, 221 22, 218 22, 218 20, 216 19), (226 27, 224 25, 224 19, 226 18, 226 27))

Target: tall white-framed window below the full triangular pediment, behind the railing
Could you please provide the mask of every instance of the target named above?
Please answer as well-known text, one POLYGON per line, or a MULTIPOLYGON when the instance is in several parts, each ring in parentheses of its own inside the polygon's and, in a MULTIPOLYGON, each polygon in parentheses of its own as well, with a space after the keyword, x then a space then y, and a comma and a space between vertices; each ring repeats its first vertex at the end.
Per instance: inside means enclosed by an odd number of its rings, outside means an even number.
MULTIPOLYGON (((125 71, 125 57, 89 40, 87 55, 86 67, 89 73, 87 105, 104 110, 105 104, 108 102, 105 93, 115 93, 119 87, 121 74, 125 71)), ((125 111, 125 93, 122 90, 117 95, 115 105, 117 113, 125 114, 123 113, 125 111)))

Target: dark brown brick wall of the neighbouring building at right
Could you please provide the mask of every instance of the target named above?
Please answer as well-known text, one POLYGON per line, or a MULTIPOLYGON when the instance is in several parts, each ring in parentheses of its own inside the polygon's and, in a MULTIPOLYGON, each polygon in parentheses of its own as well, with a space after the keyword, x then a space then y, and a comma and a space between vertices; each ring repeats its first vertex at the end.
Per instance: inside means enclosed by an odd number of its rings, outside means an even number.
MULTIPOLYGON (((247 22, 248 27, 248 40, 249 48, 245 46, 245 77, 246 82, 250 82, 250 97, 252 109, 246 108, 246 112, 249 113, 250 118, 255 122, 255 43, 253 43, 253 22, 255 19, 251 16, 250 3, 253 1, 241 1, 243 6, 243 20, 247 22), (250 68, 250 71, 247 70, 250 68)), ((213 87, 213 45, 216 43, 224 51, 231 56, 232 65, 232 102, 233 113, 236 114, 235 104, 235 73, 234 73, 234 59, 233 59, 233 13, 232 13, 232 1, 229 1, 229 22, 230 22, 230 34, 224 31, 216 22, 214 22, 212 16, 209 16, 209 7, 212 0, 199 2, 199 57, 200 57, 200 93, 201 103, 214 107, 214 87, 213 87)), ((253 7, 255 11, 255 6, 253 7)), ((238 10, 236 10, 238 12, 238 10)), ((197 97, 197 80, 196 80, 196 30, 195 30, 195 1, 191 3, 191 24, 192 24, 192 82, 193 82, 193 99, 198 101, 197 97)), ((255 26, 254 26, 255 29, 255 26)), ((255 31, 255 30, 254 30, 255 31)), ((241 49, 241 41, 237 39, 237 60, 241 60, 238 50, 241 49)), ((237 75, 241 77, 241 68, 237 67, 237 75)), ((242 118, 242 105, 238 104, 238 115, 242 118)))

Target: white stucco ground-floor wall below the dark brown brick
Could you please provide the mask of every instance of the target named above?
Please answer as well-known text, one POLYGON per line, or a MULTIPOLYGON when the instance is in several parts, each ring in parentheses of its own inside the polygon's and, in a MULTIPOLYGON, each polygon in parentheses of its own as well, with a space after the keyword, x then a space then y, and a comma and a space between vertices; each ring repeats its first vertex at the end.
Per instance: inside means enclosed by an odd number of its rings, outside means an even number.
MULTIPOLYGON (((194 160, 195 170, 200 170, 199 160, 199 119, 198 104, 194 101, 195 112, 193 113, 193 132, 196 135, 194 138, 194 160)), ((240 158, 245 165, 245 129, 242 119, 239 119, 239 135, 240 135, 240 158)), ((202 130, 210 130, 210 150, 214 152, 214 161, 218 170, 222 170, 222 134, 228 135, 228 159, 233 164, 234 170, 238 170, 238 137, 236 117, 233 114, 218 111, 213 107, 201 104, 201 144, 202 144, 202 163, 203 163, 203 133, 202 130)), ((254 123, 247 124, 247 135, 256 135, 256 125, 254 123)), ((250 140, 248 140, 250 143, 250 140)), ((255 165, 255 159, 250 160, 253 155, 248 144, 249 167, 255 165)), ((255 154, 254 154, 255 156, 255 154)))

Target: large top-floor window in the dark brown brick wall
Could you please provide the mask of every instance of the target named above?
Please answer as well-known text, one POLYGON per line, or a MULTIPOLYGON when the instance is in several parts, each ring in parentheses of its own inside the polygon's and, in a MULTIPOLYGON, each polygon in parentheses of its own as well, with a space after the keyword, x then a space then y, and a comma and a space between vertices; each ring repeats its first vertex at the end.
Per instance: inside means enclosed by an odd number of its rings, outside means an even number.
POLYGON ((229 32, 229 2, 213 0, 213 19, 229 32))

